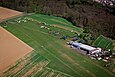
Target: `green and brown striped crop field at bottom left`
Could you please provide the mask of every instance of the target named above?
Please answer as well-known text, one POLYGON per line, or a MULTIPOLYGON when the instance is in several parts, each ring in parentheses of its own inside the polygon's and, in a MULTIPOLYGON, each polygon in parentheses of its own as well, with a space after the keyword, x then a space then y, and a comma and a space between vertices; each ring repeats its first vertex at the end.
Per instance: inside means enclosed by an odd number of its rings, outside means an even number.
POLYGON ((5 77, 69 77, 64 73, 47 68, 46 65, 49 63, 40 54, 35 51, 30 52, 28 55, 24 56, 18 60, 13 65, 9 66, 4 71, 3 76, 5 77))

